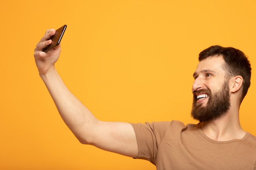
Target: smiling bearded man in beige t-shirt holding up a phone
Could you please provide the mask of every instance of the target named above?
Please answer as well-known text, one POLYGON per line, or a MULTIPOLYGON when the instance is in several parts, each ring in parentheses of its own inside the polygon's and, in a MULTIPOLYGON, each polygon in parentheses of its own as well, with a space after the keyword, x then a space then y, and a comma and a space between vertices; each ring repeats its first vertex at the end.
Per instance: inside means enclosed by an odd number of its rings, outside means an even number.
POLYGON ((61 47, 44 53, 55 30, 47 30, 34 57, 40 77, 65 124, 82 144, 146 159, 158 170, 256 170, 256 137, 239 122, 239 108, 250 86, 251 66, 243 52, 211 46, 199 55, 191 115, 180 121, 129 124, 104 122, 66 88, 54 64, 61 47))

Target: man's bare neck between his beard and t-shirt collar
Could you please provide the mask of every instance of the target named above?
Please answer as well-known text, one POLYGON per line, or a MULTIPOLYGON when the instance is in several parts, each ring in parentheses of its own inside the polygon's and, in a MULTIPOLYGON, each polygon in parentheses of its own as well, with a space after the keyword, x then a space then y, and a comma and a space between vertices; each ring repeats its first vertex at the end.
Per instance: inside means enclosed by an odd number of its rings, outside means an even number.
POLYGON ((212 121, 202 122, 202 131, 207 137, 216 141, 242 139, 246 132, 239 121, 239 108, 228 110, 225 114, 212 121))

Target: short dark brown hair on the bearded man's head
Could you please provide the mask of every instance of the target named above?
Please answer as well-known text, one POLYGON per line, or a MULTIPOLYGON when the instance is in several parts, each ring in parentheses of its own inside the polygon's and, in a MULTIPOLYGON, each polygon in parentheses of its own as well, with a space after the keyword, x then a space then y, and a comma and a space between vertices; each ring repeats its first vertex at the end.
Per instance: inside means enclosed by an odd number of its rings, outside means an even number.
POLYGON ((225 68, 227 70, 228 77, 236 75, 243 77, 243 93, 240 100, 242 102, 251 84, 250 80, 252 68, 248 58, 246 57, 245 53, 238 49, 216 45, 210 46, 209 48, 203 50, 199 54, 198 59, 201 61, 214 55, 222 56, 225 60, 225 68))

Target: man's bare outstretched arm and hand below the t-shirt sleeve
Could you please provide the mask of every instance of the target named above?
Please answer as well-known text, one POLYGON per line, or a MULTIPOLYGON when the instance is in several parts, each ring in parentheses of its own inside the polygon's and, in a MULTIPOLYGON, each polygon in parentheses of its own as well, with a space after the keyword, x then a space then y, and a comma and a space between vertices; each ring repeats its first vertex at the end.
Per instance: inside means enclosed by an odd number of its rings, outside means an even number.
POLYGON ((43 48, 51 44, 49 38, 55 30, 49 29, 36 45, 34 57, 40 77, 43 79, 65 124, 82 144, 94 145, 103 150, 137 157, 135 132, 129 123, 100 121, 67 89, 54 64, 61 53, 57 46, 45 53, 43 48))

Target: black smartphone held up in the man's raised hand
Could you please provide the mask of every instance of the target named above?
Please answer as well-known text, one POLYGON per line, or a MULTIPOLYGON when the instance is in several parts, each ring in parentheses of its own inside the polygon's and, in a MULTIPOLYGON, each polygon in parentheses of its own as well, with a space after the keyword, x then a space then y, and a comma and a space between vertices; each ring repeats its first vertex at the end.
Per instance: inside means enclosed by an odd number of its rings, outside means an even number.
POLYGON ((60 44, 61 38, 63 37, 66 28, 67 25, 63 25, 61 26, 61 28, 56 30, 55 34, 50 38, 50 40, 52 40, 52 43, 49 46, 45 47, 45 49, 43 49, 43 52, 47 53, 48 51, 54 49, 54 47, 60 44))

